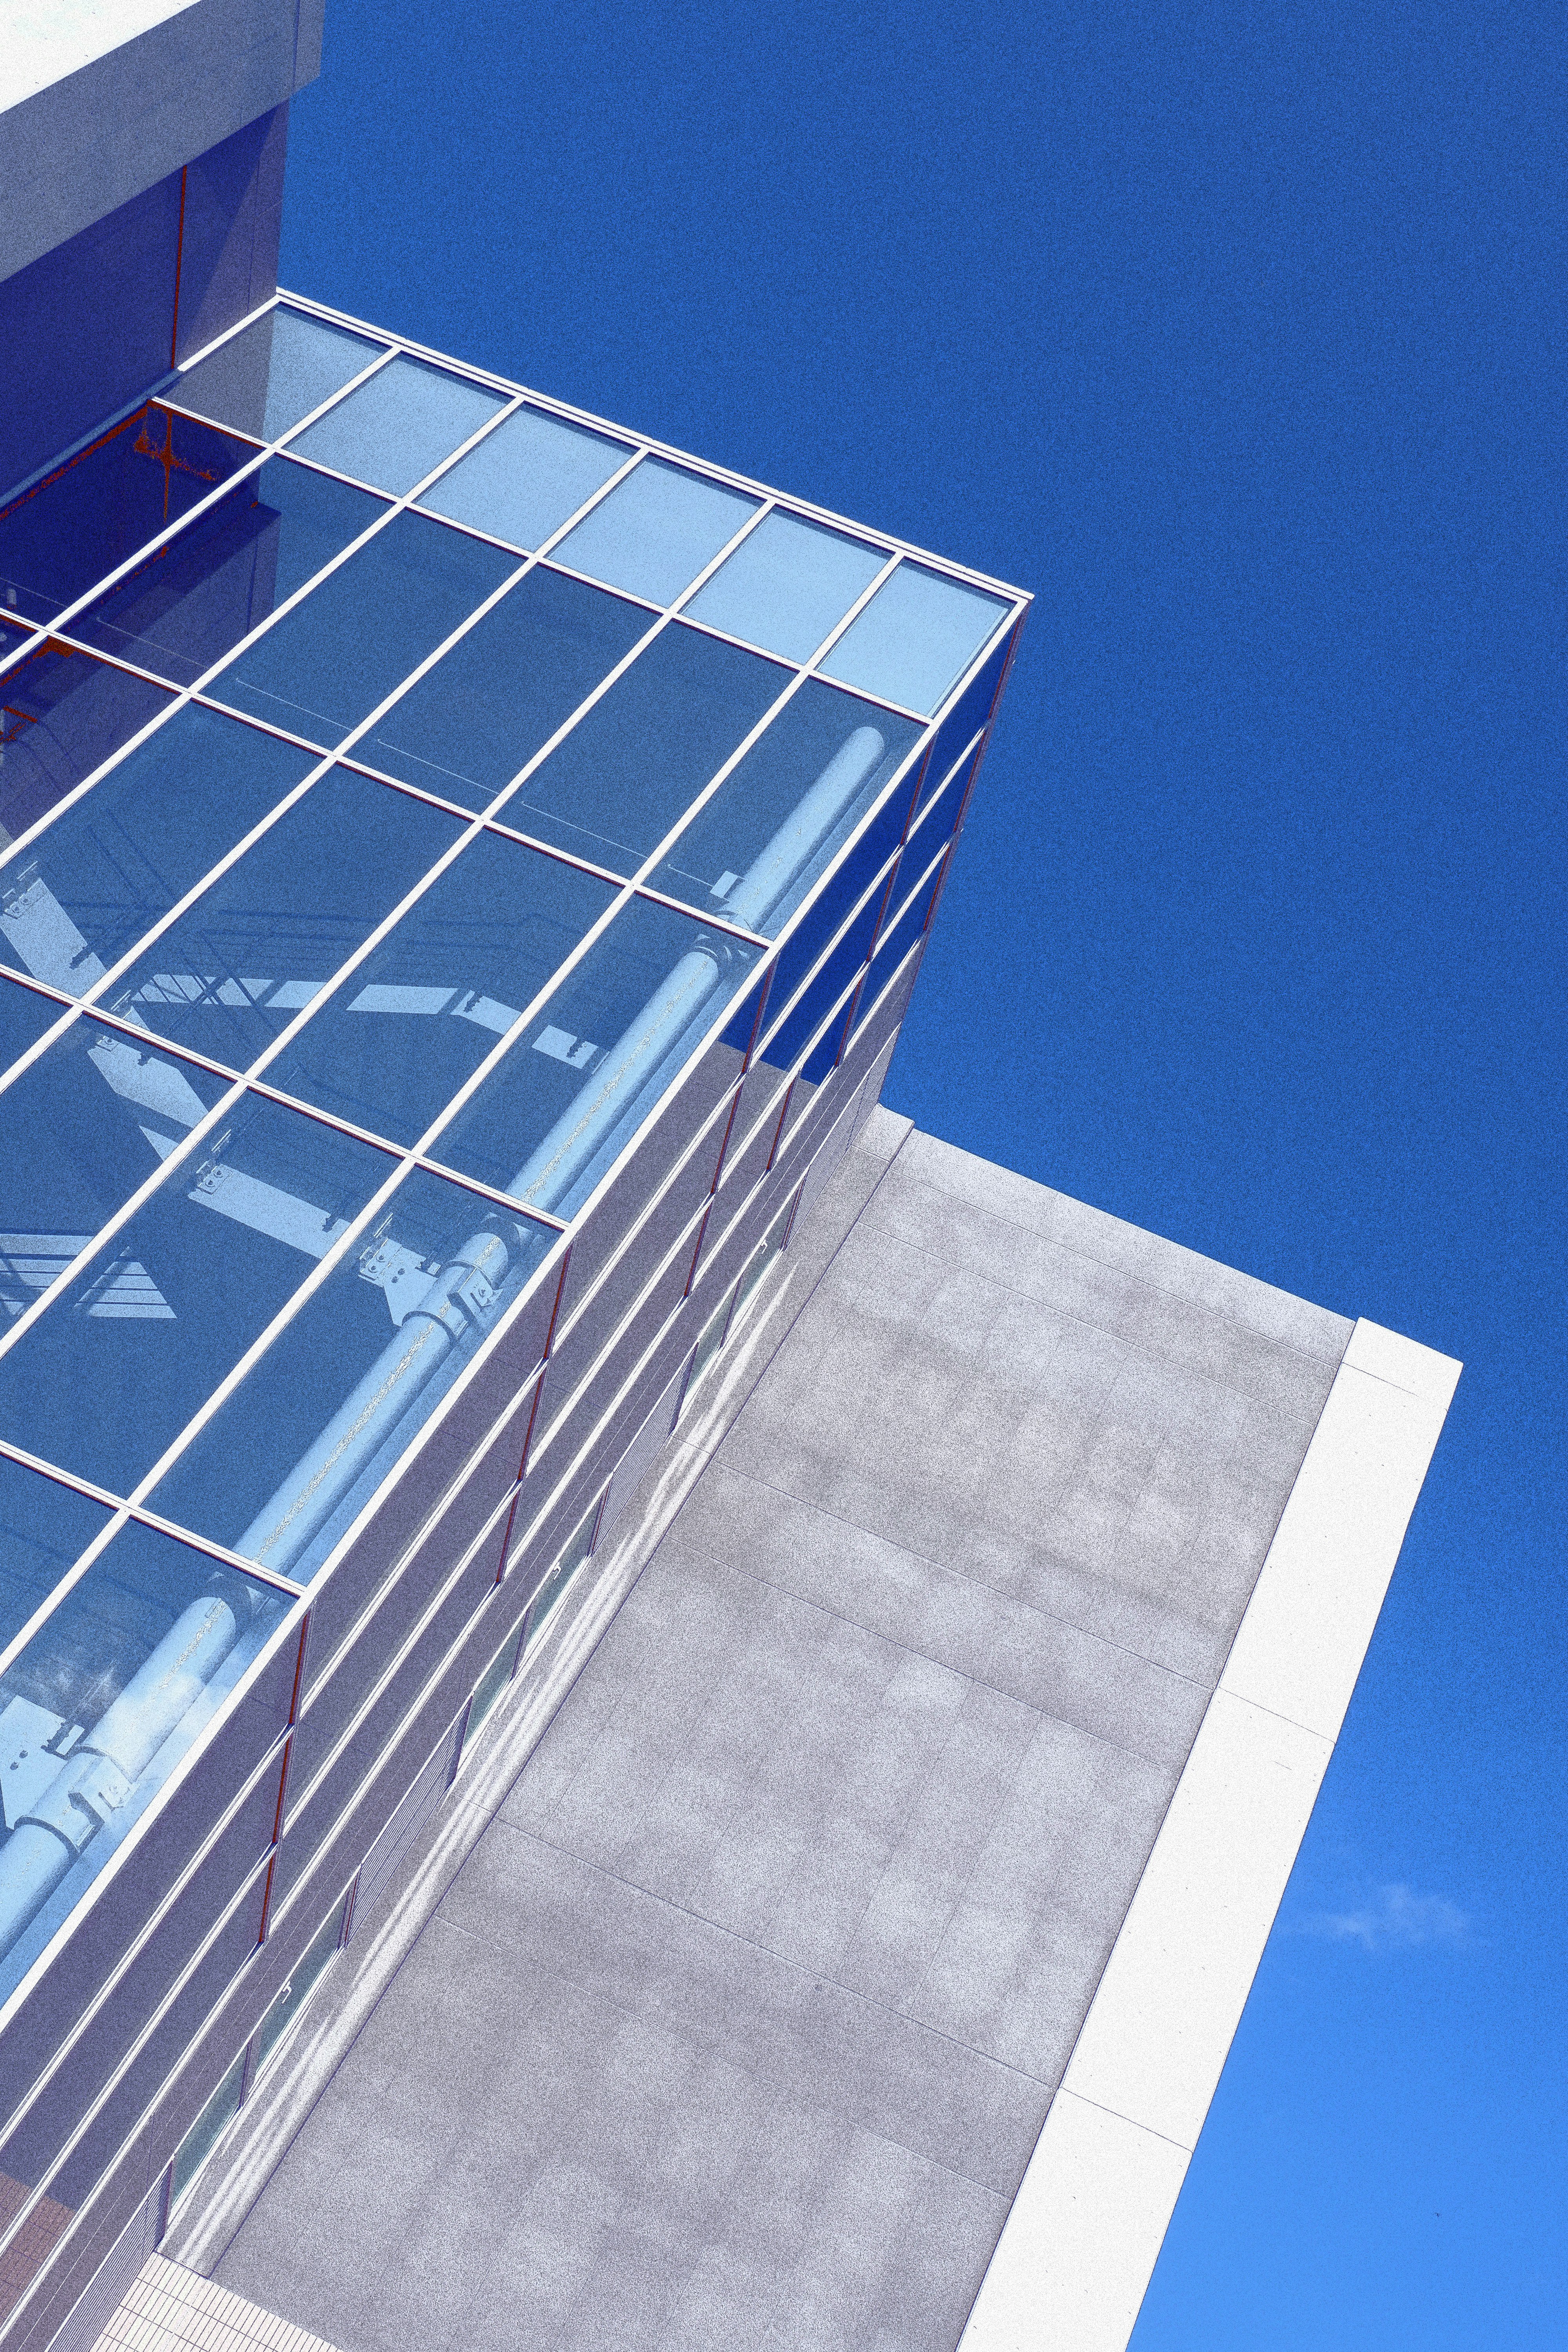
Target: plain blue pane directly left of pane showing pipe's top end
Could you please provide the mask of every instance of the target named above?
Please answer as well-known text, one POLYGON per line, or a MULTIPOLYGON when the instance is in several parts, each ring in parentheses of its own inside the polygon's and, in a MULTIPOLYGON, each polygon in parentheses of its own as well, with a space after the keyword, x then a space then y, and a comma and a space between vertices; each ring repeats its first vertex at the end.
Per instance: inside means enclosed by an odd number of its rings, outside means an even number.
POLYGON ((778 663, 672 621, 498 814, 630 873, 788 682, 778 663))

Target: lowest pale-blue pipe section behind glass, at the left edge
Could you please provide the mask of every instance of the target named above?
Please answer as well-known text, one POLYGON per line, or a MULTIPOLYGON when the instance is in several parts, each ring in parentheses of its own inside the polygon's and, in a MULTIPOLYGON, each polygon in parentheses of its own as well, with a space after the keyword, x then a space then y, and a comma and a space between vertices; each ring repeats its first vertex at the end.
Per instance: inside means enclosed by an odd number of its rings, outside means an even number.
POLYGON ((0 1955, 33 1924, 110 1813, 129 1804, 237 1637, 240 1616, 219 1592, 190 1602, 16 1823, 0 1846, 0 1955))

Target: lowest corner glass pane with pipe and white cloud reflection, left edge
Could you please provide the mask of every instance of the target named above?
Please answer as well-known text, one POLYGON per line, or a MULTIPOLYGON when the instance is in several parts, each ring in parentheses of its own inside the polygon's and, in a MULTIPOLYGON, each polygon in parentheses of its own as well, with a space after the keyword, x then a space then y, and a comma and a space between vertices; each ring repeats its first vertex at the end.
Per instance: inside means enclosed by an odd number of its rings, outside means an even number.
POLYGON ((292 1602, 122 1526, 0 1675, 0 1992, 207 1731, 292 1602))

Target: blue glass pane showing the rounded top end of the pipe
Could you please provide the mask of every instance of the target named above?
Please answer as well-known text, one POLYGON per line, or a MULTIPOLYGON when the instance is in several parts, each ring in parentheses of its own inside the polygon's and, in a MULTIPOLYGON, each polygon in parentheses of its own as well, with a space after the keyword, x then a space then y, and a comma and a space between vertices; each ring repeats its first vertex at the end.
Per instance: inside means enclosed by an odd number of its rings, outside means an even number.
MULTIPOLYGON (((809 680, 698 809, 651 887, 776 938, 917 741, 912 720, 809 680)), ((912 790, 914 779, 900 786, 893 840, 912 790)))

